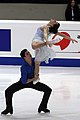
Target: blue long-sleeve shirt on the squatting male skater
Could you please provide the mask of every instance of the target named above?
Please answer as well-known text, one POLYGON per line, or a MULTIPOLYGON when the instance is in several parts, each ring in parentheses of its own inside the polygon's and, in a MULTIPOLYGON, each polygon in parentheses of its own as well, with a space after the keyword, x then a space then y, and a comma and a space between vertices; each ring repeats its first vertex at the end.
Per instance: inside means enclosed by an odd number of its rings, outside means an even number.
POLYGON ((34 69, 35 69, 35 62, 32 59, 32 65, 29 65, 26 61, 23 61, 23 65, 21 66, 21 82, 26 84, 28 79, 34 77, 34 69))

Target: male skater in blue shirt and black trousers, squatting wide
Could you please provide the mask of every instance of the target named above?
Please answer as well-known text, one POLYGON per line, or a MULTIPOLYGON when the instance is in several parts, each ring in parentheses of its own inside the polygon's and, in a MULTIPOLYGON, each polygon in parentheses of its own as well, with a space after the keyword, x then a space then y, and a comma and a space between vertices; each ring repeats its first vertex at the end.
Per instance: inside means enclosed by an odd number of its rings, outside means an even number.
POLYGON ((13 94, 23 88, 33 88, 35 90, 44 92, 42 101, 38 108, 38 113, 43 111, 44 113, 50 112, 47 109, 47 103, 51 94, 52 89, 47 85, 37 82, 33 84, 39 78, 38 76, 34 76, 35 71, 35 62, 32 58, 30 52, 27 49, 23 49, 20 53, 20 56, 23 59, 23 65, 21 66, 21 78, 18 82, 12 84, 5 90, 5 99, 6 99, 6 109, 1 112, 1 114, 7 115, 8 113, 13 114, 13 106, 12 106, 12 97, 13 94))

